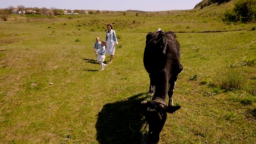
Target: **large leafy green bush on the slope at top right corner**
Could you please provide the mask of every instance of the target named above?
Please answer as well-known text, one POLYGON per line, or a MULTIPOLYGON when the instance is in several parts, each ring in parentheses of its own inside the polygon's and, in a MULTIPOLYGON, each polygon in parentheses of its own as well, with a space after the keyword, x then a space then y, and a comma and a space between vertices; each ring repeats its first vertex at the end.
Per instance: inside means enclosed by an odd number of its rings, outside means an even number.
POLYGON ((231 9, 223 13, 222 20, 229 22, 256 21, 256 0, 237 0, 231 9))

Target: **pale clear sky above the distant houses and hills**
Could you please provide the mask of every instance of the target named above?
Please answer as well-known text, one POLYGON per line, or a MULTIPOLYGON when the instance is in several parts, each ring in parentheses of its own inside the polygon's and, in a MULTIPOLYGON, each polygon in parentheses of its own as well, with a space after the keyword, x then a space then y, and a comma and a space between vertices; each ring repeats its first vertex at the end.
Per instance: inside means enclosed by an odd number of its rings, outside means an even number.
POLYGON ((57 9, 108 10, 108 11, 166 11, 193 9, 202 0, 0 0, 0 8, 46 7, 57 9))

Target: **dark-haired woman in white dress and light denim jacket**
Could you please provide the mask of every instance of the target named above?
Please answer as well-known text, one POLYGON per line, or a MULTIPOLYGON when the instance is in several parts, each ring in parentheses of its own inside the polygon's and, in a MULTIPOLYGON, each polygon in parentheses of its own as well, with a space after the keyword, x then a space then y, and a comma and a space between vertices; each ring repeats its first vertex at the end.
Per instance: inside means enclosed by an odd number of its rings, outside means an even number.
POLYGON ((107 31, 106 31, 106 39, 107 47, 106 47, 106 54, 110 55, 110 61, 109 64, 112 63, 113 56, 115 54, 115 42, 116 46, 118 46, 117 38, 116 38, 116 32, 112 30, 111 24, 107 24, 107 31))

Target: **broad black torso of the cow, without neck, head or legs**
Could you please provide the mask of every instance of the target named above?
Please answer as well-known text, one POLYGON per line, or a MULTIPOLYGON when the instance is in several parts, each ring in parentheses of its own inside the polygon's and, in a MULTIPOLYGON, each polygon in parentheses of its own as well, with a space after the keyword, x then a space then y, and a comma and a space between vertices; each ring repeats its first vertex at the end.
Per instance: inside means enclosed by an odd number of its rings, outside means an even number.
POLYGON ((166 65, 180 63, 180 44, 175 37, 173 32, 162 30, 148 33, 143 59, 148 73, 163 71, 166 65))

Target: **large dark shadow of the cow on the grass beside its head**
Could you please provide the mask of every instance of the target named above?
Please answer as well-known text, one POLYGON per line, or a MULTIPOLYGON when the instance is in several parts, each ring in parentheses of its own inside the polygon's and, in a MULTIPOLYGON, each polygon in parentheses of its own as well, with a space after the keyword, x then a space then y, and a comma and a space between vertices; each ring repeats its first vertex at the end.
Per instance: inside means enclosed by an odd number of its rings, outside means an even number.
POLYGON ((146 93, 126 100, 105 104, 96 122, 97 141, 100 144, 141 144, 146 120, 141 102, 146 93), (143 128, 144 127, 144 128, 143 128))

